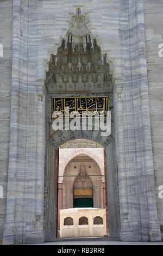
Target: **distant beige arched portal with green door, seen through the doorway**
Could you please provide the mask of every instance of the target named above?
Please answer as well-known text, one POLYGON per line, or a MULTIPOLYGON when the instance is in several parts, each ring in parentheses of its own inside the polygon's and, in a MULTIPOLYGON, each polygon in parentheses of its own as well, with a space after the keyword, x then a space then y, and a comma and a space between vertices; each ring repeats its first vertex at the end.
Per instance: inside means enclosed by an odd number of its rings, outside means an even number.
POLYGON ((63 175, 62 209, 82 206, 84 199, 90 199, 88 207, 104 208, 103 181, 104 175, 95 160, 83 154, 73 157, 63 175))

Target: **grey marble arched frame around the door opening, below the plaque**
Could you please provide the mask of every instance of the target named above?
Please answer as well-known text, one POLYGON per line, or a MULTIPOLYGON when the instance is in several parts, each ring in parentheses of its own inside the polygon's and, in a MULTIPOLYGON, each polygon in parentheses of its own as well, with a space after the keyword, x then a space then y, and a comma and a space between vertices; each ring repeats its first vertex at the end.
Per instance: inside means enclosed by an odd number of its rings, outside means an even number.
MULTIPOLYGON (((50 126, 51 124, 49 124, 50 126)), ((45 172, 45 220, 46 241, 55 241, 57 236, 57 191, 58 191, 58 148, 72 139, 91 139, 103 145, 109 219, 109 237, 119 239, 120 211, 118 204, 118 179, 115 142, 112 136, 101 136, 101 131, 55 131, 47 139, 45 172)))

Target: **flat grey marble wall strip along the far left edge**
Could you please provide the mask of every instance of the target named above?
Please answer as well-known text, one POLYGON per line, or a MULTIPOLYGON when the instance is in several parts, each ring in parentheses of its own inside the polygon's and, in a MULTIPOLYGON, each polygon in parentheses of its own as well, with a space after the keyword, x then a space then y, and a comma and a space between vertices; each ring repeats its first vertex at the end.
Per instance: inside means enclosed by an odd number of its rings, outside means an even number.
POLYGON ((3 45, 3 57, 0 57, 0 185, 3 186, 3 198, 0 198, 0 245, 2 242, 7 203, 12 72, 12 18, 12 1, 2 0, 0 2, 0 44, 3 45))

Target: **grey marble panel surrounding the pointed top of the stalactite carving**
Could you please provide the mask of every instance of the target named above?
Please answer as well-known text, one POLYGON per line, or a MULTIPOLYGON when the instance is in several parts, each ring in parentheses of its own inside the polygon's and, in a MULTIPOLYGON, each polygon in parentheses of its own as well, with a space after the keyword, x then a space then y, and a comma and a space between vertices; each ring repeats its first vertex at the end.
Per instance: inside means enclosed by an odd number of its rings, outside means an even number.
POLYGON ((37 52, 37 79, 42 80, 47 70, 47 62, 51 53, 57 53, 68 30, 71 15, 76 13, 80 5, 82 13, 88 13, 91 21, 92 33, 97 35, 97 44, 102 52, 114 62, 114 73, 121 76, 121 57, 118 35, 118 1, 106 0, 65 0, 39 1, 38 2, 38 52, 37 52), (105 33, 107 31, 107 33, 105 33))

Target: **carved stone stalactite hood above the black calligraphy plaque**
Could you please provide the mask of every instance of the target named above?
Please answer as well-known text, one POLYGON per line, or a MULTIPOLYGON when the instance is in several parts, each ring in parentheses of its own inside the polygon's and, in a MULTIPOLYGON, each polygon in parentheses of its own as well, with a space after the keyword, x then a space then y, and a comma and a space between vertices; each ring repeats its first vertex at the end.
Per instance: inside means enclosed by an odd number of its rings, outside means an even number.
POLYGON ((101 47, 97 45, 87 21, 86 15, 77 8, 57 54, 51 54, 46 73, 48 93, 61 92, 65 88, 68 90, 70 82, 74 91, 79 89, 80 82, 82 90, 88 92, 91 90, 88 82, 92 82, 93 92, 112 92, 112 76, 109 75, 106 54, 101 53, 101 47))

